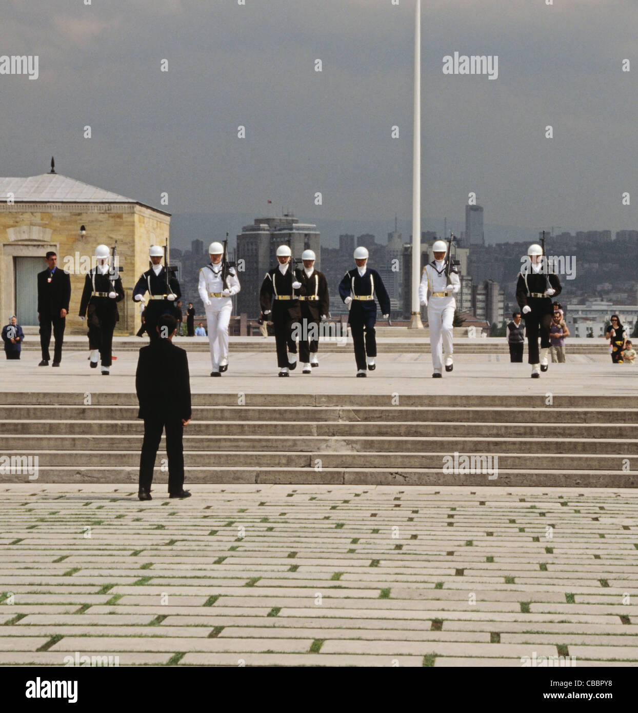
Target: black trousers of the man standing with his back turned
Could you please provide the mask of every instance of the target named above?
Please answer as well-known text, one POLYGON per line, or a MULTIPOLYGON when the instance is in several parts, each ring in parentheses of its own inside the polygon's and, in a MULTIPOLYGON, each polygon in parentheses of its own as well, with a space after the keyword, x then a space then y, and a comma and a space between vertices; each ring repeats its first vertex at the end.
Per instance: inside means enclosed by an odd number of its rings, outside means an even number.
POLYGON ((157 456, 162 431, 166 429, 166 454, 168 455, 168 492, 181 493, 184 489, 184 447, 182 420, 168 418, 144 419, 144 441, 140 455, 140 490, 150 491, 153 483, 153 467, 157 456))

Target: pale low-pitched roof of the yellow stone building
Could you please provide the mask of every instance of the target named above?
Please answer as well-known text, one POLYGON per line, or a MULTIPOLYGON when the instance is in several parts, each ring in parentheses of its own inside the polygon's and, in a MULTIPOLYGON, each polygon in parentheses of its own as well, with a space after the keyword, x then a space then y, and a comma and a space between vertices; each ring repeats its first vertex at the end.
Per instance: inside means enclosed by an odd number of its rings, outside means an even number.
MULTIPOLYGON (((42 173, 25 178, 0 177, 0 202, 6 202, 7 194, 14 194, 15 202, 51 203, 131 203, 145 205, 125 195, 88 185, 60 173, 42 173)), ((152 207, 152 206, 146 206, 152 207)), ((158 210, 153 208, 153 210, 158 210)), ((165 212, 163 210, 159 212, 165 212)), ((169 215, 166 213, 165 215, 169 215)))

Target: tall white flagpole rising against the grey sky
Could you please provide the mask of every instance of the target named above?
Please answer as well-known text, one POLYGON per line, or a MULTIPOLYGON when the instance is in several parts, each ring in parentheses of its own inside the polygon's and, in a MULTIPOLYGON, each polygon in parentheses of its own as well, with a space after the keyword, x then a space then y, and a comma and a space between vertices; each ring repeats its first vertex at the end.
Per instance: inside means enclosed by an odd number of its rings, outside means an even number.
POLYGON ((412 160, 412 310, 410 329, 423 329, 418 287, 421 284, 421 0, 414 20, 414 129, 412 160))

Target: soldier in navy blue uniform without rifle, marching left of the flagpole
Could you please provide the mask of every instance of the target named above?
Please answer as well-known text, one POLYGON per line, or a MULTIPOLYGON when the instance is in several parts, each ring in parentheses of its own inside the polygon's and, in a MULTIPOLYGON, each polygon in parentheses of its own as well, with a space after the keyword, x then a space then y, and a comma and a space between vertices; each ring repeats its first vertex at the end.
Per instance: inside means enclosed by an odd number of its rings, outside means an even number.
POLYGON ((366 267, 368 251, 365 247, 357 247, 354 251, 356 267, 349 270, 339 283, 339 294, 345 304, 350 305, 348 322, 354 342, 354 358, 356 359, 357 376, 366 376, 366 369, 376 369, 376 299, 384 319, 390 316, 390 297, 376 270, 366 267), (364 329, 366 333, 364 343, 364 329))

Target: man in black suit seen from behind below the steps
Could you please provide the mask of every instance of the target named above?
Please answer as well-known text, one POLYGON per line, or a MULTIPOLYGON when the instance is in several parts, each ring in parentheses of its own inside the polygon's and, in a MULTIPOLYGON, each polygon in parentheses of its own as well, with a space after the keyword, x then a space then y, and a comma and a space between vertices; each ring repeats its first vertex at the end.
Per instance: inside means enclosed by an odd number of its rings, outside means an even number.
POLYGON ((163 314, 155 326, 158 338, 140 349, 135 389, 144 419, 144 441, 140 456, 140 485, 138 498, 151 500, 150 485, 162 431, 166 429, 168 455, 168 494, 170 498, 190 498, 184 490, 184 451, 182 434, 190 423, 190 381, 188 359, 184 349, 175 347, 177 319, 163 314), (165 385, 171 375, 170 386, 165 385))

